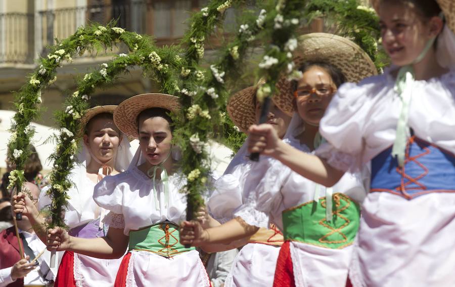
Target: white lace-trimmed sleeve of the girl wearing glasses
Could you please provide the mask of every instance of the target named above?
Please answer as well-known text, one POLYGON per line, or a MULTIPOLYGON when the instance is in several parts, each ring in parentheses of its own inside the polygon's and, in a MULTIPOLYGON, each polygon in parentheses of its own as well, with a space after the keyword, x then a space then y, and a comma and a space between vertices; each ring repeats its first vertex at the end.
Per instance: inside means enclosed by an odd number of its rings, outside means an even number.
POLYGON ((260 163, 255 163, 246 179, 248 191, 244 204, 235 216, 241 217, 247 224, 268 228, 277 217, 282 206, 281 187, 291 174, 291 170, 276 159, 269 158, 266 172, 258 172, 260 163), (249 183, 253 183, 252 186, 249 183))

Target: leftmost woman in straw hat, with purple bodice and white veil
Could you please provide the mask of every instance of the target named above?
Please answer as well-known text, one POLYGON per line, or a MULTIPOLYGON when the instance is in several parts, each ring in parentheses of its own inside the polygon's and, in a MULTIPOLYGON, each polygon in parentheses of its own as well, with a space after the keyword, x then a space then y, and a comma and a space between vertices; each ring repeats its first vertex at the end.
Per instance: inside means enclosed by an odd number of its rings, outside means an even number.
MULTIPOLYGON (((78 154, 79 165, 74 168, 70 180, 74 187, 68 190, 68 207, 65 223, 69 234, 81 238, 104 236, 109 225, 103 223, 106 210, 93 200, 93 190, 105 175, 118 174, 126 170, 132 158, 129 142, 115 126, 113 112, 116 106, 97 106, 88 109, 81 118, 83 129, 82 149, 78 154)), ((50 204, 50 198, 40 193, 38 208, 50 204)), ((29 217, 32 226, 44 223, 42 215, 30 199, 19 194, 15 201, 15 212, 29 217), (25 208, 25 209, 24 209, 25 208)), ((45 231, 36 230, 46 243, 45 231)), ((114 284, 116 270, 121 260, 97 259, 73 252, 65 252, 55 280, 55 286, 106 286, 114 284)))

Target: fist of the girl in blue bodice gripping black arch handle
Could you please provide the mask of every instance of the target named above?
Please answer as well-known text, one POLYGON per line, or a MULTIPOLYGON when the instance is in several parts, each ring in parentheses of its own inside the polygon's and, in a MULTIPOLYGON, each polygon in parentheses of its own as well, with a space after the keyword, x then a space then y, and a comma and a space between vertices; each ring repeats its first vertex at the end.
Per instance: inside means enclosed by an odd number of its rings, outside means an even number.
POLYGON ((253 125, 248 129, 248 151, 273 155, 279 143, 277 131, 268 124, 253 125))

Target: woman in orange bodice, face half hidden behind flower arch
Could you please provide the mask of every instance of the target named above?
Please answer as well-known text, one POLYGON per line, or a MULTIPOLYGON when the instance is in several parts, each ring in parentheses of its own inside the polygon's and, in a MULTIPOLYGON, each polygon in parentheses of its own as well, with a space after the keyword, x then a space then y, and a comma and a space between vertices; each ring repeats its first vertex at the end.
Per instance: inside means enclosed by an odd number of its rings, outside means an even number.
MULTIPOLYGON (((262 84, 259 81, 258 86, 262 84)), ((234 96, 227 110, 234 124, 242 132, 258 121, 260 102, 256 100, 257 86, 246 88, 234 96)), ((268 113, 268 123, 272 125, 279 137, 284 137, 291 116, 272 104, 268 113)), ((247 144, 245 143, 231 161, 224 175, 215 182, 215 190, 207 201, 207 207, 216 220, 223 223, 233 219, 233 212, 246 200, 244 189, 252 161, 248 160, 247 144)), ((264 166, 265 167, 265 166, 264 166)), ((264 173, 265 171, 257 171, 264 173)), ((251 183, 248 183, 251 185, 251 183)), ((233 243, 212 244, 206 246, 208 252, 219 252, 226 249, 240 248, 231 272, 224 286, 257 287, 271 286, 275 274, 278 253, 283 244, 283 235, 274 226, 271 229, 262 228, 251 237, 237 240, 233 243)))

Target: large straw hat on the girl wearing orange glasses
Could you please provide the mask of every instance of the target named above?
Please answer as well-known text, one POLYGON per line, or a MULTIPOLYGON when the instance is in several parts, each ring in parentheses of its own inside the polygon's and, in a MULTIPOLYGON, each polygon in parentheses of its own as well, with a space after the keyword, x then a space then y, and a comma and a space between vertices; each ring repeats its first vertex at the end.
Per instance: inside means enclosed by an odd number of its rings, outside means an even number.
MULTIPOLYGON (((346 81, 358 83, 360 80, 378 74, 378 70, 368 56, 351 40, 329 33, 310 33, 298 38, 299 46, 295 51, 294 63, 299 68, 306 61, 331 64, 346 77, 346 81)), ((274 103, 285 113, 294 112, 294 95, 291 82, 282 76, 277 83, 274 103)))

